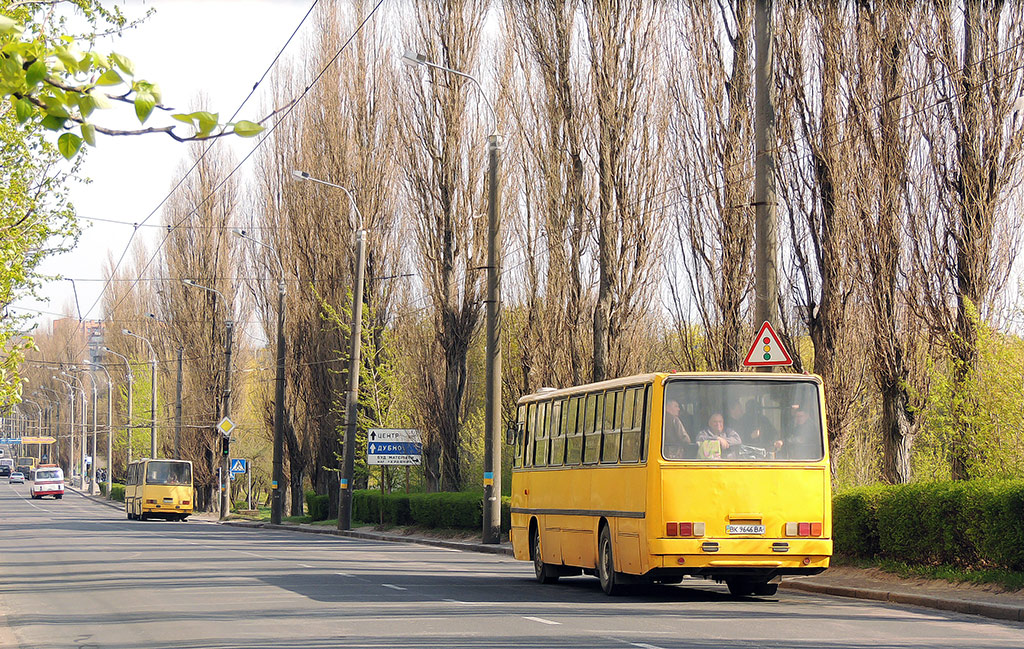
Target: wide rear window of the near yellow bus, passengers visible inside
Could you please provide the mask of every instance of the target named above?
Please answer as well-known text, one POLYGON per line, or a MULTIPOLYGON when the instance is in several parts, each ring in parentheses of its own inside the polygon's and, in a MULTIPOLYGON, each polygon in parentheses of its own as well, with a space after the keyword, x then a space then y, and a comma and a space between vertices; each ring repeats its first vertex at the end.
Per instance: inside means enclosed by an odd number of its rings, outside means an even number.
POLYGON ((815 461, 824 452, 811 381, 670 381, 663 426, 666 460, 815 461))

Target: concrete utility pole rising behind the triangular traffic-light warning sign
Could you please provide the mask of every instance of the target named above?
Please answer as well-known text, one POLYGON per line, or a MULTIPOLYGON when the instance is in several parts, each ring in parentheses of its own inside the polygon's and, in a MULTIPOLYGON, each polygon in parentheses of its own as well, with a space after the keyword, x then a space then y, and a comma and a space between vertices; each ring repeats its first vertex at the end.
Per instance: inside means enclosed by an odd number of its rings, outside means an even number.
MULTIPOLYGON (((772 101, 772 4, 757 0, 755 40, 755 329, 778 322, 778 219, 775 214, 775 106, 772 101)), ((759 367, 771 372, 772 367, 759 367)))

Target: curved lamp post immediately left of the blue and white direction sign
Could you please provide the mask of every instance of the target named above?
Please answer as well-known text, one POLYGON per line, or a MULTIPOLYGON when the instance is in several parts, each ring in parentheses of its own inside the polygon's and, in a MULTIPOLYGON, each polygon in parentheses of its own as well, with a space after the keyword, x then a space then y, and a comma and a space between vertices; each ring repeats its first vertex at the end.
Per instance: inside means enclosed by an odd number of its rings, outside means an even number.
POLYGON ((355 285, 352 287, 352 347, 348 363, 348 392, 345 395, 345 448, 341 464, 341 492, 338 502, 338 529, 351 529, 352 474, 355 473, 355 420, 359 404, 359 352, 362 347, 362 274, 367 265, 367 231, 362 229, 362 214, 355 205, 355 197, 347 187, 314 178, 304 171, 295 170, 292 175, 299 180, 310 180, 341 189, 348 197, 352 211, 355 212, 358 219, 355 227, 355 285))

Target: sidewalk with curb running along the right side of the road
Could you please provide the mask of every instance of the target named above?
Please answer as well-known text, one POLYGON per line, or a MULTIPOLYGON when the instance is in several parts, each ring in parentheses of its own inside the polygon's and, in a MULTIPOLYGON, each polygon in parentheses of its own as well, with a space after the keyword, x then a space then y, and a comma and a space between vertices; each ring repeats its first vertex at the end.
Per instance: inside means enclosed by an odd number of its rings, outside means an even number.
MULTIPOLYGON (((271 525, 263 521, 225 521, 223 524, 236 527, 281 529, 351 538, 421 544, 467 552, 512 554, 512 546, 509 543, 485 546, 479 542, 446 540, 413 534, 359 529, 340 531, 324 525, 271 525)), ((981 615, 992 619, 1024 621, 1024 591, 1002 592, 995 587, 951 583, 938 579, 903 578, 878 569, 838 566, 814 576, 785 577, 781 588, 818 595, 921 606, 955 613, 981 615)))

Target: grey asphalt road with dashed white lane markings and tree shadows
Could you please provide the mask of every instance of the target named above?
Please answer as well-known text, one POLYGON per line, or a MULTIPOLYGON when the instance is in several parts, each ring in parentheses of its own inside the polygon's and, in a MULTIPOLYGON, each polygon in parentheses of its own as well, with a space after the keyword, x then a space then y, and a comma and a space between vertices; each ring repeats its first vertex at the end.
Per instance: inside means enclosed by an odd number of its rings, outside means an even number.
POLYGON ((1022 624, 788 591, 733 600, 724 587, 684 585, 608 598, 593 577, 538 585, 531 565, 509 557, 128 521, 72 492, 30 501, 26 487, 0 483, 0 647, 1024 645, 1022 624))

